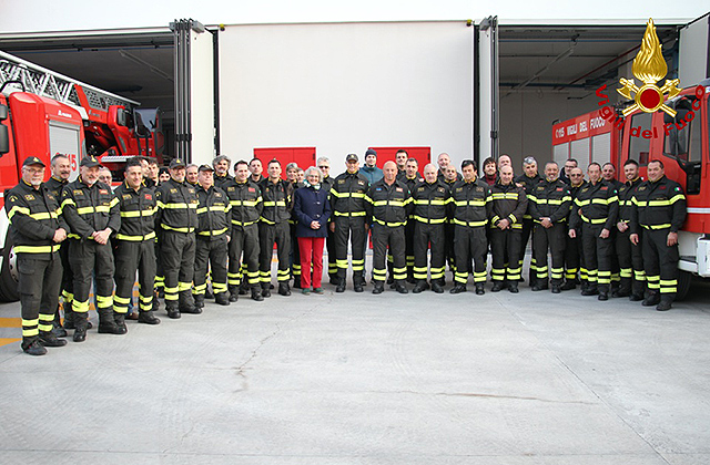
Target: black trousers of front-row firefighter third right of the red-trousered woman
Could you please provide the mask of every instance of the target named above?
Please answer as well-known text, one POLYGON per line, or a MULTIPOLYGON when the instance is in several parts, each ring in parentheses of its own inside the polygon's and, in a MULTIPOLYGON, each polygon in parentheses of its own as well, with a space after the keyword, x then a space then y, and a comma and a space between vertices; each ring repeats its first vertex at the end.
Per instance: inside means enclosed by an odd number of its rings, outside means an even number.
POLYGON ((438 282, 444 286, 444 244, 445 244, 445 225, 428 224, 412 219, 414 223, 414 279, 417 281, 426 281, 427 278, 427 250, 432 245, 432 282, 438 282))

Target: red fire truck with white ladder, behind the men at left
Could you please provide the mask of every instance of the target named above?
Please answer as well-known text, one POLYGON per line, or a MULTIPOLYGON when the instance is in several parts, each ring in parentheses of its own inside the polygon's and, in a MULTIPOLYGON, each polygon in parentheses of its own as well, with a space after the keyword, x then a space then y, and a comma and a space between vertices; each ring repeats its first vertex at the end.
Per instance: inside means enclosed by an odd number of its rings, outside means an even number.
MULTIPOLYGON (((159 108, 140 104, 0 52, 0 300, 17 300, 12 244, 4 192, 21 177, 22 161, 40 157, 48 166, 65 154, 79 174, 79 162, 94 154, 116 172, 129 157, 162 161, 164 138, 159 108)), ((114 179, 116 176, 114 176, 114 179)))

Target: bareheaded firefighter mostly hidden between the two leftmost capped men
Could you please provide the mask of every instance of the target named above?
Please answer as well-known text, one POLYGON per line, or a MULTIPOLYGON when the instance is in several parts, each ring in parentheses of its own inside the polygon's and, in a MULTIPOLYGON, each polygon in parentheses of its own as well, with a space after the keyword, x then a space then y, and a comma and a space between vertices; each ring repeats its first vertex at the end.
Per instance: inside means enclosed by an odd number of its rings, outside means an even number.
MULTIPOLYGON (((52 162, 50 164, 52 176, 44 182, 44 187, 49 189, 49 192, 54 196, 57 202, 62 198, 62 189, 67 184, 69 184, 69 176, 71 175, 71 162, 69 157, 64 154, 57 154, 52 157, 52 162)), ((64 301, 64 324, 69 324, 69 328, 73 328, 73 321, 71 318, 71 301, 74 297, 72 291, 73 289, 73 277, 71 275, 71 269, 69 267, 69 242, 64 242, 63 246, 59 248, 59 257, 62 260, 62 300, 64 301)), ((59 337, 63 338, 67 335, 67 331, 62 328, 60 314, 59 314, 59 304, 57 306, 57 312, 54 314, 54 322, 52 331, 59 337)))

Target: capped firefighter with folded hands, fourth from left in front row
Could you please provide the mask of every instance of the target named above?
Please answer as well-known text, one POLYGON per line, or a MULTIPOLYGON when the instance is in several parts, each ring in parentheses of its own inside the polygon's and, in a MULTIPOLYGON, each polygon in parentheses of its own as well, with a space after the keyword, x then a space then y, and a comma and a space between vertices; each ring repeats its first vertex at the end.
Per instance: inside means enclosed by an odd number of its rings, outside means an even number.
POLYGON ((195 307, 191 288, 195 270, 195 228, 197 227, 197 194, 185 182, 185 164, 180 158, 170 162, 170 179, 155 190, 160 259, 165 276, 165 311, 171 319, 181 313, 202 313, 195 307))

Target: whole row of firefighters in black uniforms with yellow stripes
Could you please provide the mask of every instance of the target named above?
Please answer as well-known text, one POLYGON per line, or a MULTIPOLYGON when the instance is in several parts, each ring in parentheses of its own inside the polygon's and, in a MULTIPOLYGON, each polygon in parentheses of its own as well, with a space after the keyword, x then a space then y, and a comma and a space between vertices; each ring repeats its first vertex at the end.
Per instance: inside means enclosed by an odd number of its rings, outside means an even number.
MULTIPOLYGON (((373 293, 382 293, 385 283, 407 293, 406 282, 414 293, 429 288, 443 293, 448 262, 452 293, 465 292, 473 276, 476 293, 483 294, 489 251, 491 291, 518 292, 531 236, 532 291, 559 293, 581 285, 582 296, 599 300, 629 297, 657 310, 671 307, 686 199, 660 161, 648 163, 647 180, 628 161, 623 183, 616 180, 610 163, 591 163, 585 180, 574 159, 562 170, 547 163, 539 174, 535 158, 526 157, 517 177, 508 155, 486 159, 480 177, 474 161, 464 161, 459 174, 445 153, 438 166, 424 166, 423 175, 406 151, 382 169, 373 149, 362 167, 355 154, 345 163, 346 170, 333 178, 329 161, 317 161, 321 186, 329 192, 326 247, 336 292, 346 290, 348 250, 354 290, 363 292, 369 230, 373 293)), ((276 159, 268 162, 266 176, 257 158, 236 162, 234 176, 230 167, 224 155, 212 166, 173 159, 170 176, 159 178, 154 159, 134 157, 113 190, 100 180, 94 157, 81 161, 73 182, 65 156, 52 158, 47 182, 44 163, 28 157, 22 179, 6 193, 22 349, 41 355, 45 347, 64 345, 67 329, 74 330, 75 342, 84 341, 92 282, 98 331, 112 334, 128 332, 129 314, 160 323, 158 296, 172 319, 202 312, 205 298, 227 306, 250 292, 255 301, 271 297, 274 245, 277 292, 290 296, 292 279, 300 288, 301 275, 311 272, 301 269, 292 217, 303 169, 290 164, 282 179, 276 159)))

